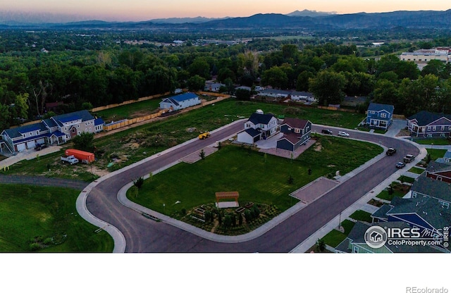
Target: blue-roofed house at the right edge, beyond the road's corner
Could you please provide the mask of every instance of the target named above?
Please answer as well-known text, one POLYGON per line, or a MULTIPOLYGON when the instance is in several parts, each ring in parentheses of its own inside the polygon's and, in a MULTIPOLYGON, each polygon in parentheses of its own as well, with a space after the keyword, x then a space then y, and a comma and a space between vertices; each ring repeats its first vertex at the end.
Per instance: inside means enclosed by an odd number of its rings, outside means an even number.
POLYGON ((451 115, 420 111, 407 118, 407 130, 413 137, 449 137, 451 115))

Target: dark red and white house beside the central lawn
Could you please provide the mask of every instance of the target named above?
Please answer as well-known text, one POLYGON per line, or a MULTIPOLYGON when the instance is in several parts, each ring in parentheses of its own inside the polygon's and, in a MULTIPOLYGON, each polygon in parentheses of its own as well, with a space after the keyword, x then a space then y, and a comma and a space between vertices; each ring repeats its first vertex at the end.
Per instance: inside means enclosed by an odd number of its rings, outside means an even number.
POLYGON ((285 118, 280 125, 280 132, 283 132, 283 136, 278 139, 277 148, 295 151, 310 139, 311 122, 297 118, 285 118))

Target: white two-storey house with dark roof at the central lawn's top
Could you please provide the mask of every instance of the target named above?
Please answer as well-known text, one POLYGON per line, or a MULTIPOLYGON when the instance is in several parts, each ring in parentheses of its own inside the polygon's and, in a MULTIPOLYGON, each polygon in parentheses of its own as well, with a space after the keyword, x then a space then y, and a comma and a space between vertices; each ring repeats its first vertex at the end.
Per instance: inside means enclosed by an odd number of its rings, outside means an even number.
POLYGON ((278 133, 278 119, 272 114, 264 114, 261 110, 252 113, 245 122, 245 130, 239 132, 237 141, 253 144, 260 139, 266 139, 278 133))

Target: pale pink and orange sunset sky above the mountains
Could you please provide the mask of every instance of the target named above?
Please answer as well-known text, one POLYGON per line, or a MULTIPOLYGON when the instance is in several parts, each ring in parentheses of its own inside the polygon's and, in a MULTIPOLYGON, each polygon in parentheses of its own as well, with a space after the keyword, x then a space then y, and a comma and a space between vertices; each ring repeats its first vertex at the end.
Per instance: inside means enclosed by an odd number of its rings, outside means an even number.
POLYGON ((310 11, 357 13, 388 11, 445 11, 445 0, 13 0, 2 1, 2 15, 65 15, 63 20, 142 21, 156 18, 246 17, 257 13, 310 11))

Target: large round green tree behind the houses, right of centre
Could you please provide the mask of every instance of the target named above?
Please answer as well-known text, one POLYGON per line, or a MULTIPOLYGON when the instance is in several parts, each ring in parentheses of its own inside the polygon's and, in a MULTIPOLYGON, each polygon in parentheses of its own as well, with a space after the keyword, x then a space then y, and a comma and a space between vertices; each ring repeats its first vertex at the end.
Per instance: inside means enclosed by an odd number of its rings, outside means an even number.
POLYGON ((309 91, 319 99, 319 104, 340 104, 345 96, 343 90, 346 85, 346 77, 342 73, 323 70, 316 77, 309 79, 309 91))

